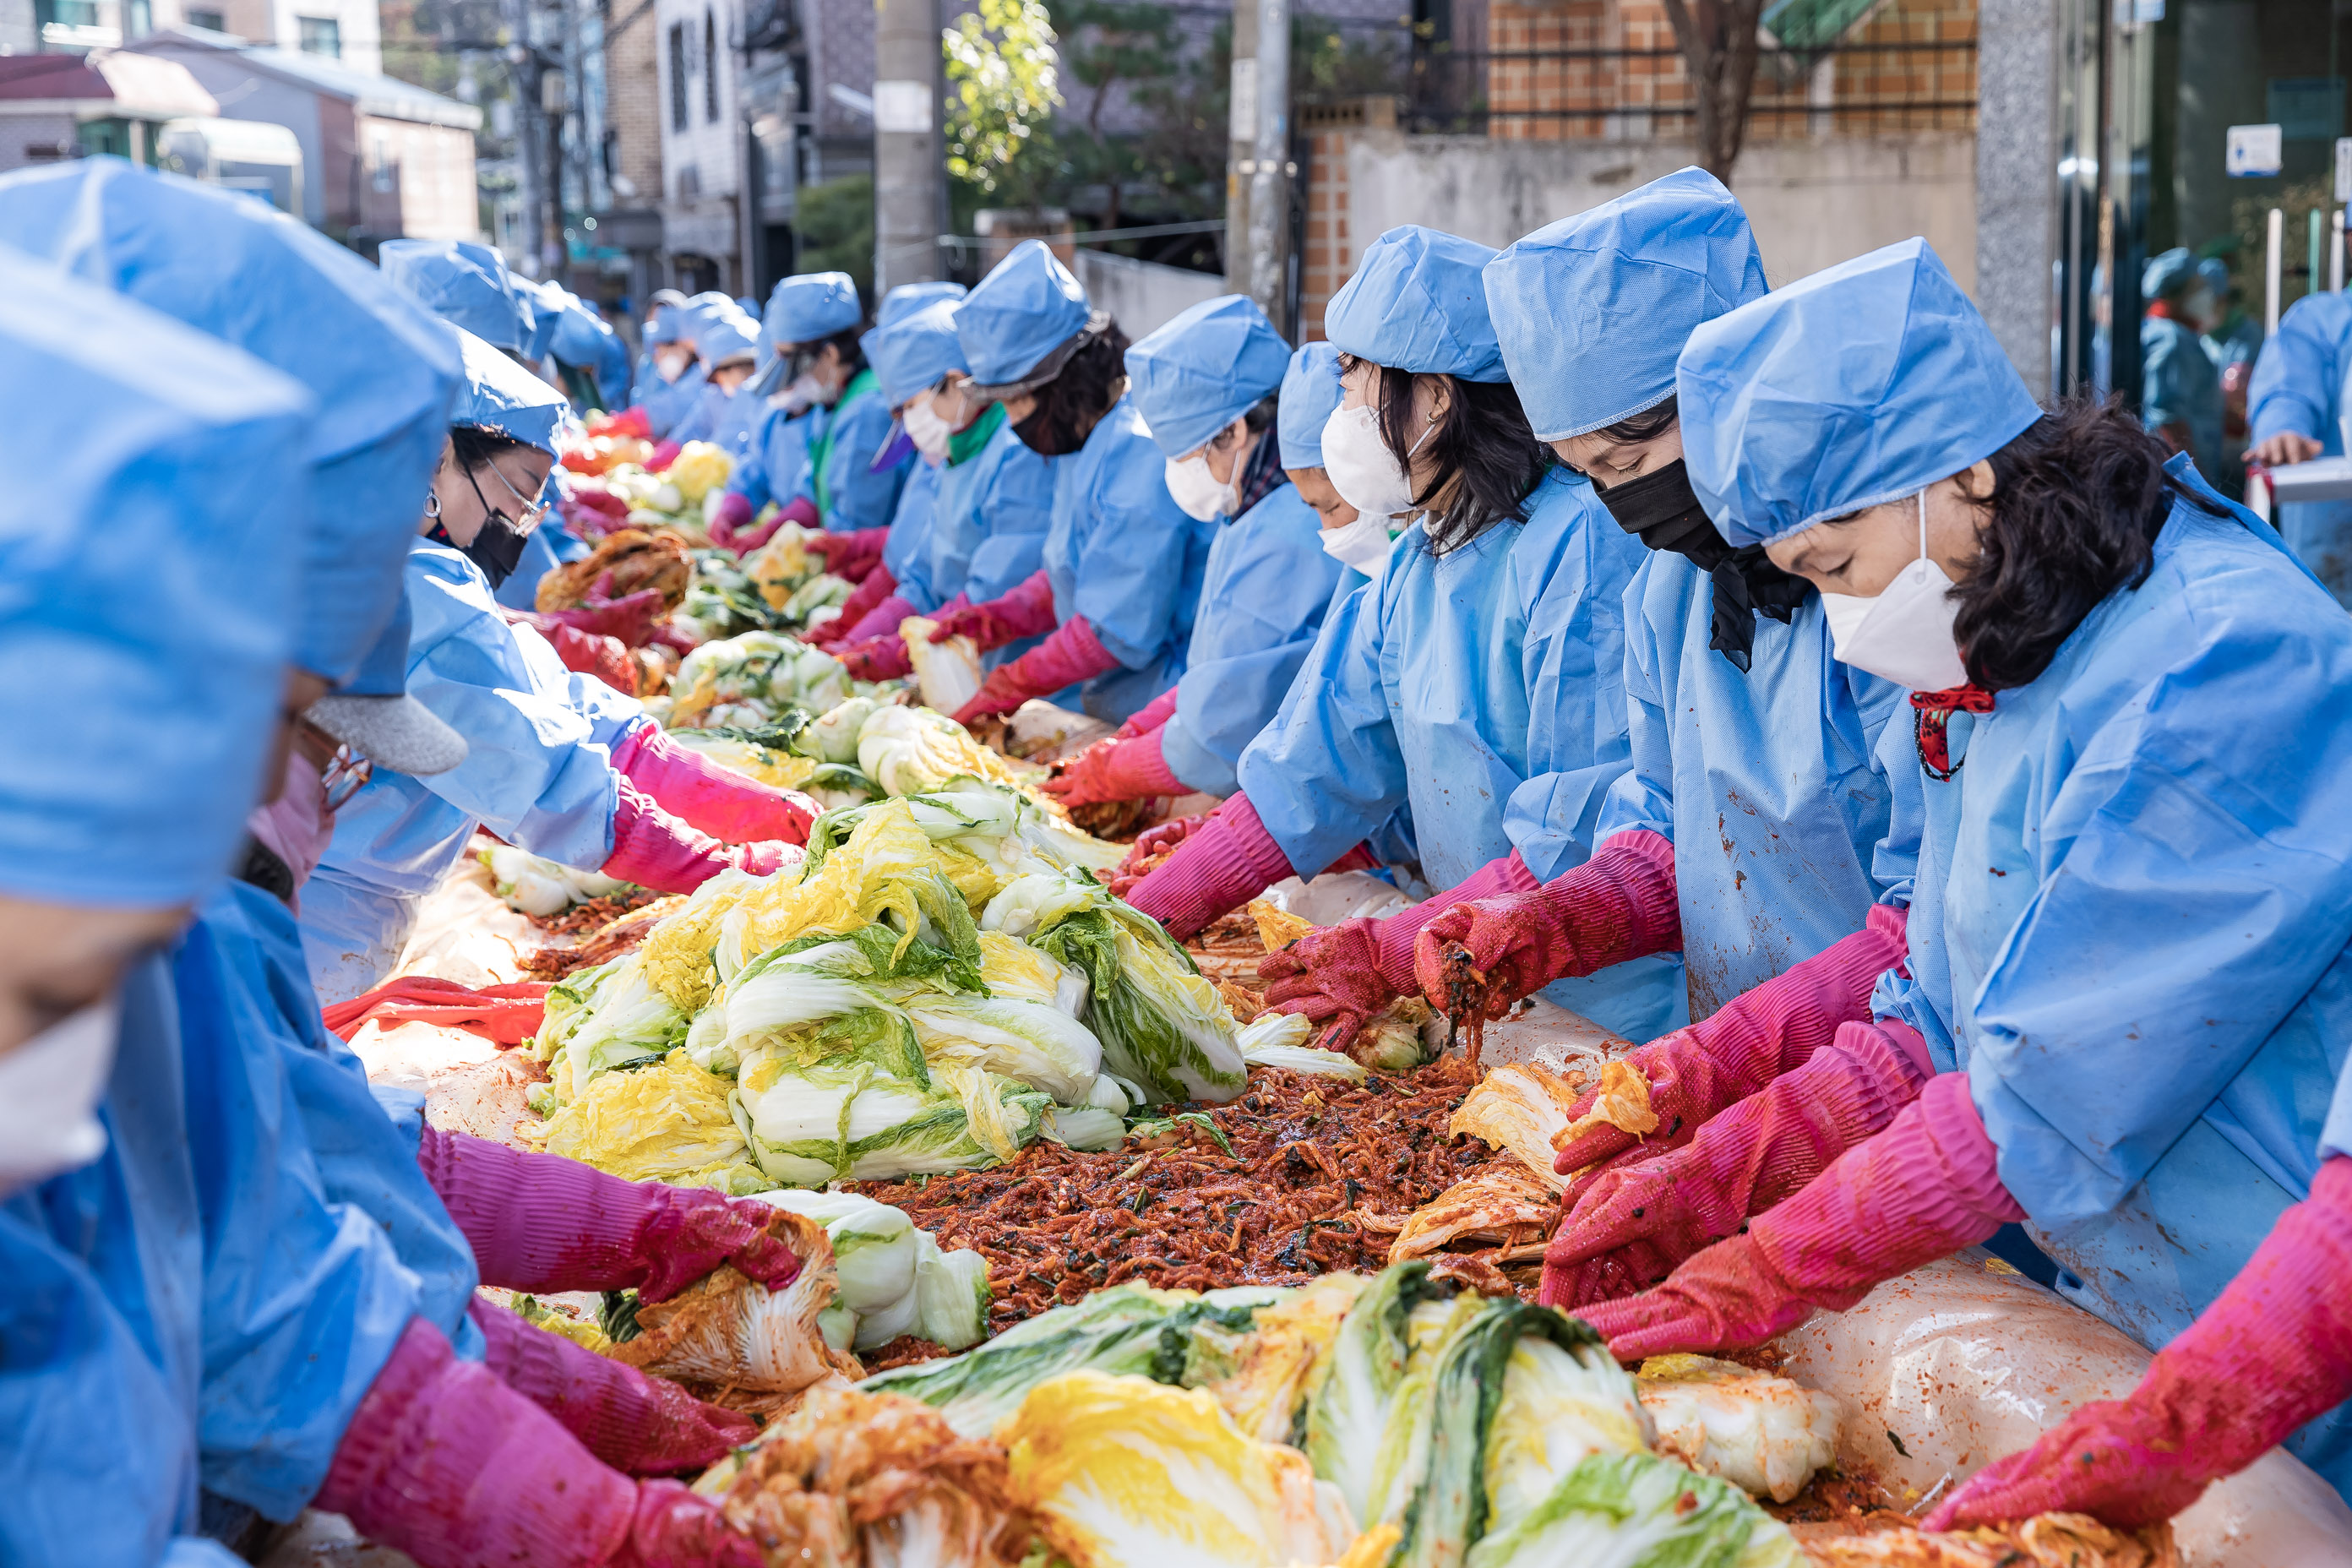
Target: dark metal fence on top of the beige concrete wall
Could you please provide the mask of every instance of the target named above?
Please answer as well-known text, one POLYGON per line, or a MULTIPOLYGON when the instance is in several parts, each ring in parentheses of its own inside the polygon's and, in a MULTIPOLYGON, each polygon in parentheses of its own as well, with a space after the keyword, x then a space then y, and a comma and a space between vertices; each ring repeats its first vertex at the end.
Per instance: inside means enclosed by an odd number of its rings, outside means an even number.
MULTIPOLYGON (((1679 49, 1414 52, 1406 125, 1529 141, 1689 136, 1679 49)), ((1748 139, 1976 129, 1976 38, 1764 49, 1748 139)))

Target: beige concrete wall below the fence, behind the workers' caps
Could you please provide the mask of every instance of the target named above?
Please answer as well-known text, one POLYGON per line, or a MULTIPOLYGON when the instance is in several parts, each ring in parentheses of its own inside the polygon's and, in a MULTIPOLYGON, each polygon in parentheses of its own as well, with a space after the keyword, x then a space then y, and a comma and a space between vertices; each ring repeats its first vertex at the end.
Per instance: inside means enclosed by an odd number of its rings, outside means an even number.
MULTIPOLYGON (((1484 244, 1625 195, 1691 162, 1670 141, 1489 141, 1362 132, 1348 139, 1355 254, 1397 223, 1484 244)), ((1319 174, 1322 169, 1317 169, 1319 174)), ((1750 143, 1731 190, 1764 247, 1773 284, 1926 235, 1964 289, 1976 287, 1976 139, 1825 136, 1750 143)), ((1341 275, 1352 270, 1352 256, 1341 275)))

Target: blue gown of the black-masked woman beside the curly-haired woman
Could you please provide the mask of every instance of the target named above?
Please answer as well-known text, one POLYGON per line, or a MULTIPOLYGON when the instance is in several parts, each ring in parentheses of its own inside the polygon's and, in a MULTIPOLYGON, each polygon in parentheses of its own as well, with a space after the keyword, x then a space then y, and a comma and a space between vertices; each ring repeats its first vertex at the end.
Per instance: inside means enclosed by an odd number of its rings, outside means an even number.
POLYGON ((1708 574, 1665 550, 1625 590, 1632 766, 1597 832, 1675 842, 1691 1018, 1907 903, 1919 846, 1917 764, 1889 778, 1872 757, 1905 693, 1832 658, 1818 597, 1755 618, 1748 675, 1708 646, 1712 607, 1708 574))

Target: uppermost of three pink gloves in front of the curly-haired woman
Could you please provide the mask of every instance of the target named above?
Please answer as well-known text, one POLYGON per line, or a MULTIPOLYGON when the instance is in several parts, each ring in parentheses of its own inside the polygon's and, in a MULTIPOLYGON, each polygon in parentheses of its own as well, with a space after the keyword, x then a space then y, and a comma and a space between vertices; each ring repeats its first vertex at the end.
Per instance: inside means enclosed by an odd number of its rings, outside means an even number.
MULTIPOLYGON (((1649 1107, 1658 1112, 1658 1131, 1637 1138, 1606 1124, 1597 1126, 1564 1143, 1552 1168, 1571 1175, 1621 1157, 1651 1159, 1689 1143, 1708 1117, 1802 1067, 1813 1051, 1837 1039, 1837 1025, 1870 1018, 1870 987, 1903 961, 1903 910, 1879 905, 1853 936, 1740 992, 1715 1016, 1630 1051, 1625 1060, 1649 1079, 1649 1107)), ((1569 1119, 1590 1112, 1592 1098, 1571 1105, 1569 1119)), ((1569 1187, 1571 1206, 1578 1197, 1581 1190, 1569 1187)))

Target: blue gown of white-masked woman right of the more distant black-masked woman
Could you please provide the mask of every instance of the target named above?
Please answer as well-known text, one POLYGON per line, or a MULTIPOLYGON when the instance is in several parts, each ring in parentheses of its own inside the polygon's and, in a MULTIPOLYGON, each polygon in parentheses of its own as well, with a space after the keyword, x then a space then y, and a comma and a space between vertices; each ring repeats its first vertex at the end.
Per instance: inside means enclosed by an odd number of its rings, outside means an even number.
POLYGON ((1343 571, 1319 538, 1322 517, 1284 482, 1209 541, 1176 712, 1160 731, 1160 757, 1185 788, 1240 788, 1232 769, 1282 708, 1343 571))

